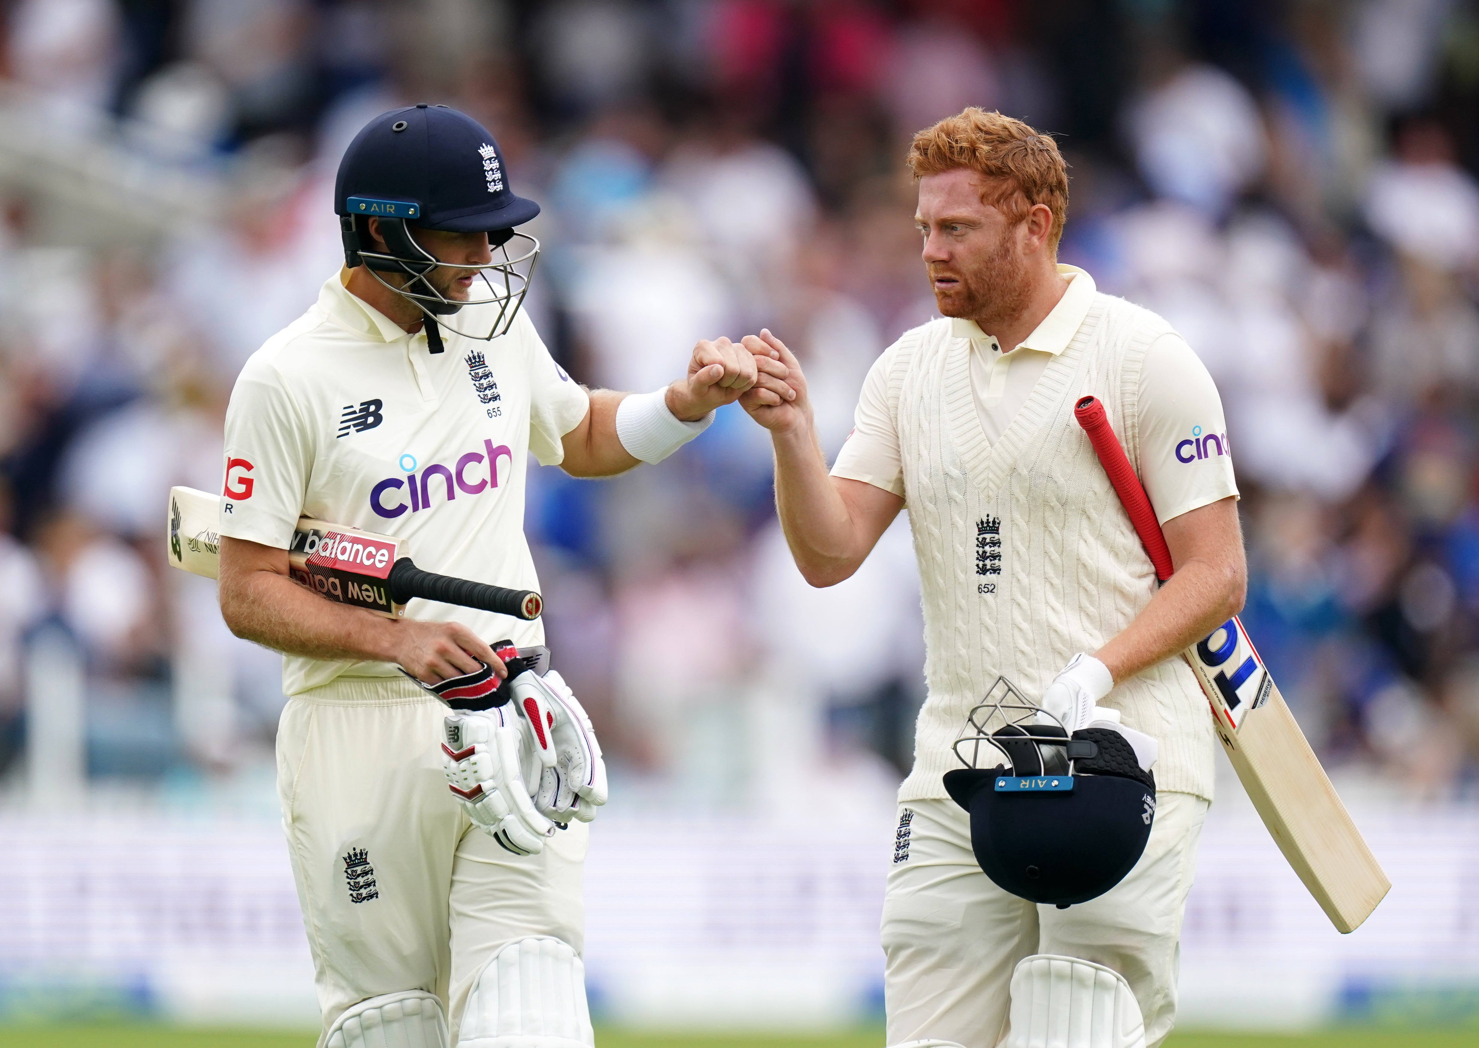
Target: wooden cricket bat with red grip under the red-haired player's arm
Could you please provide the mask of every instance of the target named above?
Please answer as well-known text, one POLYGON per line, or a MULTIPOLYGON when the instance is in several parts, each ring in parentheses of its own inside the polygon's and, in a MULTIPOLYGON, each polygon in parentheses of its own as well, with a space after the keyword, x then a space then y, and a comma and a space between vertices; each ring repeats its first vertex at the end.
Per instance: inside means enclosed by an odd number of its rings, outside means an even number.
MULTIPOLYGON (((1157 578, 1164 582, 1171 576, 1171 553, 1105 406, 1086 396, 1074 417, 1089 435, 1155 565, 1157 578)), ((1182 652, 1182 658, 1197 674, 1222 748, 1279 851, 1331 924, 1341 933, 1355 931, 1392 888, 1392 881, 1340 803, 1242 622, 1232 616, 1182 652)))

